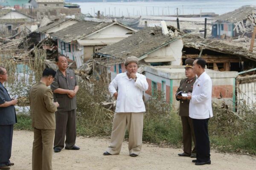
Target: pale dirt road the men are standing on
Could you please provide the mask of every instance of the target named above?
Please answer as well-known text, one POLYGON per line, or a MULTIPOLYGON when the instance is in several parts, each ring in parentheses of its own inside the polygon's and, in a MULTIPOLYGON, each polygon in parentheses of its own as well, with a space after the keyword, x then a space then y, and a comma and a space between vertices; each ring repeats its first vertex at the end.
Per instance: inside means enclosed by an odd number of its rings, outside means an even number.
MULTIPOLYGON (((12 170, 31 170, 33 132, 15 131, 11 161, 12 170)), ((53 153, 53 170, 255 170, 256 156, 223 154, 211 151, 212 164, 195 166, 188 157, 179 157, 182 149, 143 144, 138 157, 128 155, 128 143, 124 142, 119 155, 103 156, 109 139, 77 138, 79 151, 62 150, 53 153)))

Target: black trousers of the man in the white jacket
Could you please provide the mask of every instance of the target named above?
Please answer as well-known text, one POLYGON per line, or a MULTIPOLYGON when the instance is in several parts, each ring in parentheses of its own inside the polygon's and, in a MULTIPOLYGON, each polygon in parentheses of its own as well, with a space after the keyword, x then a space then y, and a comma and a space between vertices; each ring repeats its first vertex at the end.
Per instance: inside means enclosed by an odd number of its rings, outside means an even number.
POLYGON ((196 159, 198 161, 210 160, 210 141, 208 134, 208 119, 193 119, 196 140, 196 159))

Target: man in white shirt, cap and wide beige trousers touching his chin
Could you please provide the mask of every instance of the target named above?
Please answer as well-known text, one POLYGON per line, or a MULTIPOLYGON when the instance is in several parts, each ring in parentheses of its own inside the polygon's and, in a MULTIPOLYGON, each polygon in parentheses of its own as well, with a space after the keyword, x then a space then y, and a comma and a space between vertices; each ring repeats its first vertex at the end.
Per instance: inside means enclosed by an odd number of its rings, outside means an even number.
POLYGON ((138 58, 131 56, 125 60, 125 73, 117 74, 108 90, 116 98, 111 144, 103 155, 120 153, 126 127, 129 131, 129 154, 136 157, 142 147, 143 115, 145 104, 143 91, 148 90, 148 82, 143 74, 137 73, 138 58), (116 91, 118 89, 118 92, 116 91))

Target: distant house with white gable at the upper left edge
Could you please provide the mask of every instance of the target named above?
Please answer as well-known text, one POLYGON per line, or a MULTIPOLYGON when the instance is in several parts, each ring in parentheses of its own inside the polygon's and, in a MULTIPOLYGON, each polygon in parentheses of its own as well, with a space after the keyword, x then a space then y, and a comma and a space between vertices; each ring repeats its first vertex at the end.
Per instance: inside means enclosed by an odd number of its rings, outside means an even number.
POLYGON ((20 25, 33 22, 33 17, 26 15, 21 11, 13 9, 0 9, 0 34, 17 34, 18 27, 20 25))

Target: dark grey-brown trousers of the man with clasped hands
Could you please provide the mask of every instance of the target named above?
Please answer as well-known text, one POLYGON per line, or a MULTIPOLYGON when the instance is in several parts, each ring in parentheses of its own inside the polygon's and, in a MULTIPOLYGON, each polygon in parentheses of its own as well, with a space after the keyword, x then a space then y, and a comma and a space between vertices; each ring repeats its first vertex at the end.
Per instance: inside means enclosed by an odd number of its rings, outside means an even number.
POLYGON ((55 112, 56 129, 53 148, 71 149, 76 143, 76 109, 67 112, 55 112), (66 136, 66 141, 65 141, 66 136))

